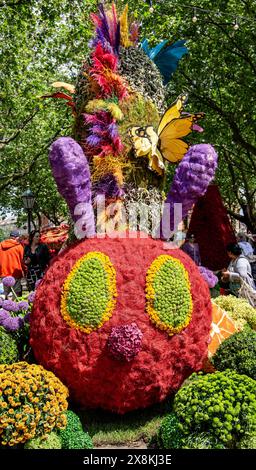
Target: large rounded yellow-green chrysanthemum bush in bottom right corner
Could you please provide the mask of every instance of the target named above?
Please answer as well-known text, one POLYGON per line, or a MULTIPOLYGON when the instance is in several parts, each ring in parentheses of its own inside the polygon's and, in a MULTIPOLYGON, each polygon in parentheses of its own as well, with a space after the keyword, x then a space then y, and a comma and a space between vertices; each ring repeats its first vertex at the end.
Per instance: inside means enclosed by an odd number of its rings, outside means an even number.
POLYGON ((234 371, 203 375, 182 387, 174 411, 184 434, 210 433, 225 446, 236 447, 256 426, 256 381, 234 371))

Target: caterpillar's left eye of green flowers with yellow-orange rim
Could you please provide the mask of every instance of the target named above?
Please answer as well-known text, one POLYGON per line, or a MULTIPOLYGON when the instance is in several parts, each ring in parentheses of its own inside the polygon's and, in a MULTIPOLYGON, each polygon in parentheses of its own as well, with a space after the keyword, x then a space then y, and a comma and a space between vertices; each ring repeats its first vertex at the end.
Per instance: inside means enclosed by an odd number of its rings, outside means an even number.
POLYGON ((116 295, 109 257, 91 251, 76 262, 63 285, 61 314, 72 328, 91 333, 111 317, 116 295))

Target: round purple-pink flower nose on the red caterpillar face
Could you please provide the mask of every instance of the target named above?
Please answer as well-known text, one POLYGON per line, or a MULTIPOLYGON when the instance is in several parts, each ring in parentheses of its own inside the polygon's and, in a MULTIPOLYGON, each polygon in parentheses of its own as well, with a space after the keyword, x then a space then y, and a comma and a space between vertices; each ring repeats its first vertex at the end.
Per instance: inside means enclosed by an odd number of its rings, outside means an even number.
POLYGON ((130 362, 141 350, 142 336, 136 323, 116 326, 109 335, 109 351, 115 359, 130 362))

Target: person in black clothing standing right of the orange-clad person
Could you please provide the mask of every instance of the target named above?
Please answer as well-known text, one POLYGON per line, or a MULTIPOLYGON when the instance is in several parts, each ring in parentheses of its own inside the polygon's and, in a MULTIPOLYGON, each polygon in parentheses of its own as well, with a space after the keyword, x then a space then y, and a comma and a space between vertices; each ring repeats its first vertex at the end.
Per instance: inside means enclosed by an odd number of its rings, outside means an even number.
POLYGON ((24 263, 27 266, 28 290, 35 289, 36 281, 41 279, 49 265, 50 253, 47 245, 40 243, 40 233, 33 230, 29 235, 29 243, 24 250, 24 263))

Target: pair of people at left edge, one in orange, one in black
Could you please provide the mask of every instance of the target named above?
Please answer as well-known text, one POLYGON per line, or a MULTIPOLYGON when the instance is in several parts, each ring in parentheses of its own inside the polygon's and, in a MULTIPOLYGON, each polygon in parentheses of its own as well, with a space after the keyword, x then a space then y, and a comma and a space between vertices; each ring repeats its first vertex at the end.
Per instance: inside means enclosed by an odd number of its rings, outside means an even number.
POLYGON ((35 289, 50 263, 47 245, 40 242, 40 232, 33 230, 28 240, 22 240, 20 232, 13 230, 10 237, 0 243, 0 279, 12 276, 15 285, 4 286, 4 296, 8 298, 11 289, 17 297, 22 295, 22 278, 26 278, 28 291, 35 289))

